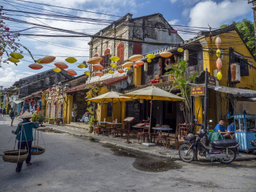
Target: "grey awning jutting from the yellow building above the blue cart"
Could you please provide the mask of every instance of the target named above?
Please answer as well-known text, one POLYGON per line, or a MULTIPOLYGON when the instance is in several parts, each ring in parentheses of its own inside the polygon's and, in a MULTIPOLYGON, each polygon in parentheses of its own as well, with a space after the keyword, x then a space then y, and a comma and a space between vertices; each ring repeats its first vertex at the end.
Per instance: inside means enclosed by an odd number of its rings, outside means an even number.
POLYGON ((253 90, 244 90, 244 89, 232 88, 227 86, 213 86, 213 85, 208 85, 208 87, 212 90, 215 90, 216 92, 229 93, 234 95, 235 97, 246 97, 246 98, 256 97, 256 91, 253 91, 253 90))

